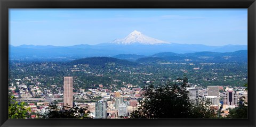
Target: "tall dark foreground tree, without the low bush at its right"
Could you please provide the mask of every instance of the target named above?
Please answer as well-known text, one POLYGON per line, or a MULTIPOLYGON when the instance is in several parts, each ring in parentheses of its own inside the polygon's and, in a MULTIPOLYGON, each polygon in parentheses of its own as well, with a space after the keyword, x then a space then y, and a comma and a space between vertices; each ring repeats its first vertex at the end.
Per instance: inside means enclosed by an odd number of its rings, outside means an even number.
POLYGON ((186 83, 170 82, 164 86, 146 86, 141 107, 131 114, 131 118, 188 118, 191 103, 186 87, 186 83))

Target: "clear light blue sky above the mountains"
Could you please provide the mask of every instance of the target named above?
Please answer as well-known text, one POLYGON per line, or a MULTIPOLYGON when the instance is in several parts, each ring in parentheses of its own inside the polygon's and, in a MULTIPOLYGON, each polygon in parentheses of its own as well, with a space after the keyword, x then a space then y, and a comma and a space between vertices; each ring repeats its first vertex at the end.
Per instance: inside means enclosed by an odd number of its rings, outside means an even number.
POLYGON ((247 45, 247 9, 10 9, 9 44, 108 43, 137 30, 169 43, 247 45))

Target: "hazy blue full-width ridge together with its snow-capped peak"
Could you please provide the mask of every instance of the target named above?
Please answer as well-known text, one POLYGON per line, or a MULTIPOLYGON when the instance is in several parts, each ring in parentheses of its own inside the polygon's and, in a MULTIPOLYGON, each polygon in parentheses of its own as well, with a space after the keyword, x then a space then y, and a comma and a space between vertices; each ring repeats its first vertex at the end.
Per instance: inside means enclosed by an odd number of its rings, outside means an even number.
MULTIPOLYGON (((61 43, 61 42, 60 42, 61 43)), ((85 41, 86 43, 86 41, 85 41)), ((151 56, 157 53, 172 52, 177 54, 195 52, 235 52, 237 50, 247 50, 247 45, 225 45, 207 46, 199 44, 177 44, 158 40, 143 35, 134 30, 123 39, 116 39, 110 43, 97 45, 73 45, 73 46, 35 46, 35 45, 9 45, 9 57, 12 59, 22 58, 84 58, 94 56, 113 57, 119 54, 135 54, 138 56, 151 56)), ((125 56, 126 57, 126 56, 125 56)), ((177 56, 177 58, 179 58, 177 56)))

